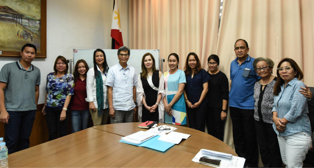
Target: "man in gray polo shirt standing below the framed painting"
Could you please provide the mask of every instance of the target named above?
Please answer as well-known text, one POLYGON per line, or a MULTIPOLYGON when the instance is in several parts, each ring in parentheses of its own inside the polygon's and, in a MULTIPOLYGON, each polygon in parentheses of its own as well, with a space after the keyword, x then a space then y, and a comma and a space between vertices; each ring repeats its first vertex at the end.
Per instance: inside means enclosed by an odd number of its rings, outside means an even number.
POLYGON ((31 64, 35 45, 25 44, 20 54, 21 60, 0 71, 0 121, 8 154, 29 148, 39 98, 40 70, 31 64))

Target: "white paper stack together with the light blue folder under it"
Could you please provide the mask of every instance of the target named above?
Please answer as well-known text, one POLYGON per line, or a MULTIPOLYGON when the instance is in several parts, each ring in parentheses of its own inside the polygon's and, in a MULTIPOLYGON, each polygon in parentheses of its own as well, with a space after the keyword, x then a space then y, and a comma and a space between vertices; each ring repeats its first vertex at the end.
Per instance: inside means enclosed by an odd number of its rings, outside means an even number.
POLYGON ((160 141, 158 140, 159 137, 160 136, 156 133, 139 131, 126 137, 122 137, 119 142, 147 147, 162 152, 165 152, 167 149, 175 145, 175 143, 160 141))

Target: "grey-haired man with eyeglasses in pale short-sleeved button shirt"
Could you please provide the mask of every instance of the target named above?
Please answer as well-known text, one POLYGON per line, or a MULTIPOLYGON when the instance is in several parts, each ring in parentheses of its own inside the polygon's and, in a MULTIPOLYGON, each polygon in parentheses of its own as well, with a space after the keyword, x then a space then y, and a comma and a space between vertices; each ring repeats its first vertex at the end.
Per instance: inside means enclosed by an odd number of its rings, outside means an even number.
POLYGON ((109 116, 111 124, 133 122, 137 110, 135 69, 127 65, 130 49, 123 46, 118 49, 119 63, 112 66, 107 75, 109 116))

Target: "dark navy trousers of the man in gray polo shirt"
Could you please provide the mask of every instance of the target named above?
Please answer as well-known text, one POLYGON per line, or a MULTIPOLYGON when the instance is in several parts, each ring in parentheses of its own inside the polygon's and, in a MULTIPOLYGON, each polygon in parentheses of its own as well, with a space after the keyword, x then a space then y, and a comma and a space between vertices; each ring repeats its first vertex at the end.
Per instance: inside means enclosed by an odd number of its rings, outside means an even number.
POLYGON ((35 121, 36 110, 8 111, 9 124, 4 124, 4 139, 8 154, 30 147, 30 133, 35 121))

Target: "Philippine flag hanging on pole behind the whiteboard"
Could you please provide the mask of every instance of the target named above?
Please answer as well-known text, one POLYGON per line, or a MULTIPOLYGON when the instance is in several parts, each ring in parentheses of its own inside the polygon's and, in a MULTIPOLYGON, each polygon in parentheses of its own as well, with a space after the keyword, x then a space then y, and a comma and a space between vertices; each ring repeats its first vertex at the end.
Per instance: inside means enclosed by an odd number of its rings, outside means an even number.
POLYGON ((121 22, 120 22, 120 11, 118 7, 118 1, 114 0, 113 3, 114 3, 114 8, 113 8, 113 13, 112 13, 111 37, 115 41, 114 49, 118 49, 123 46, 121 22))

